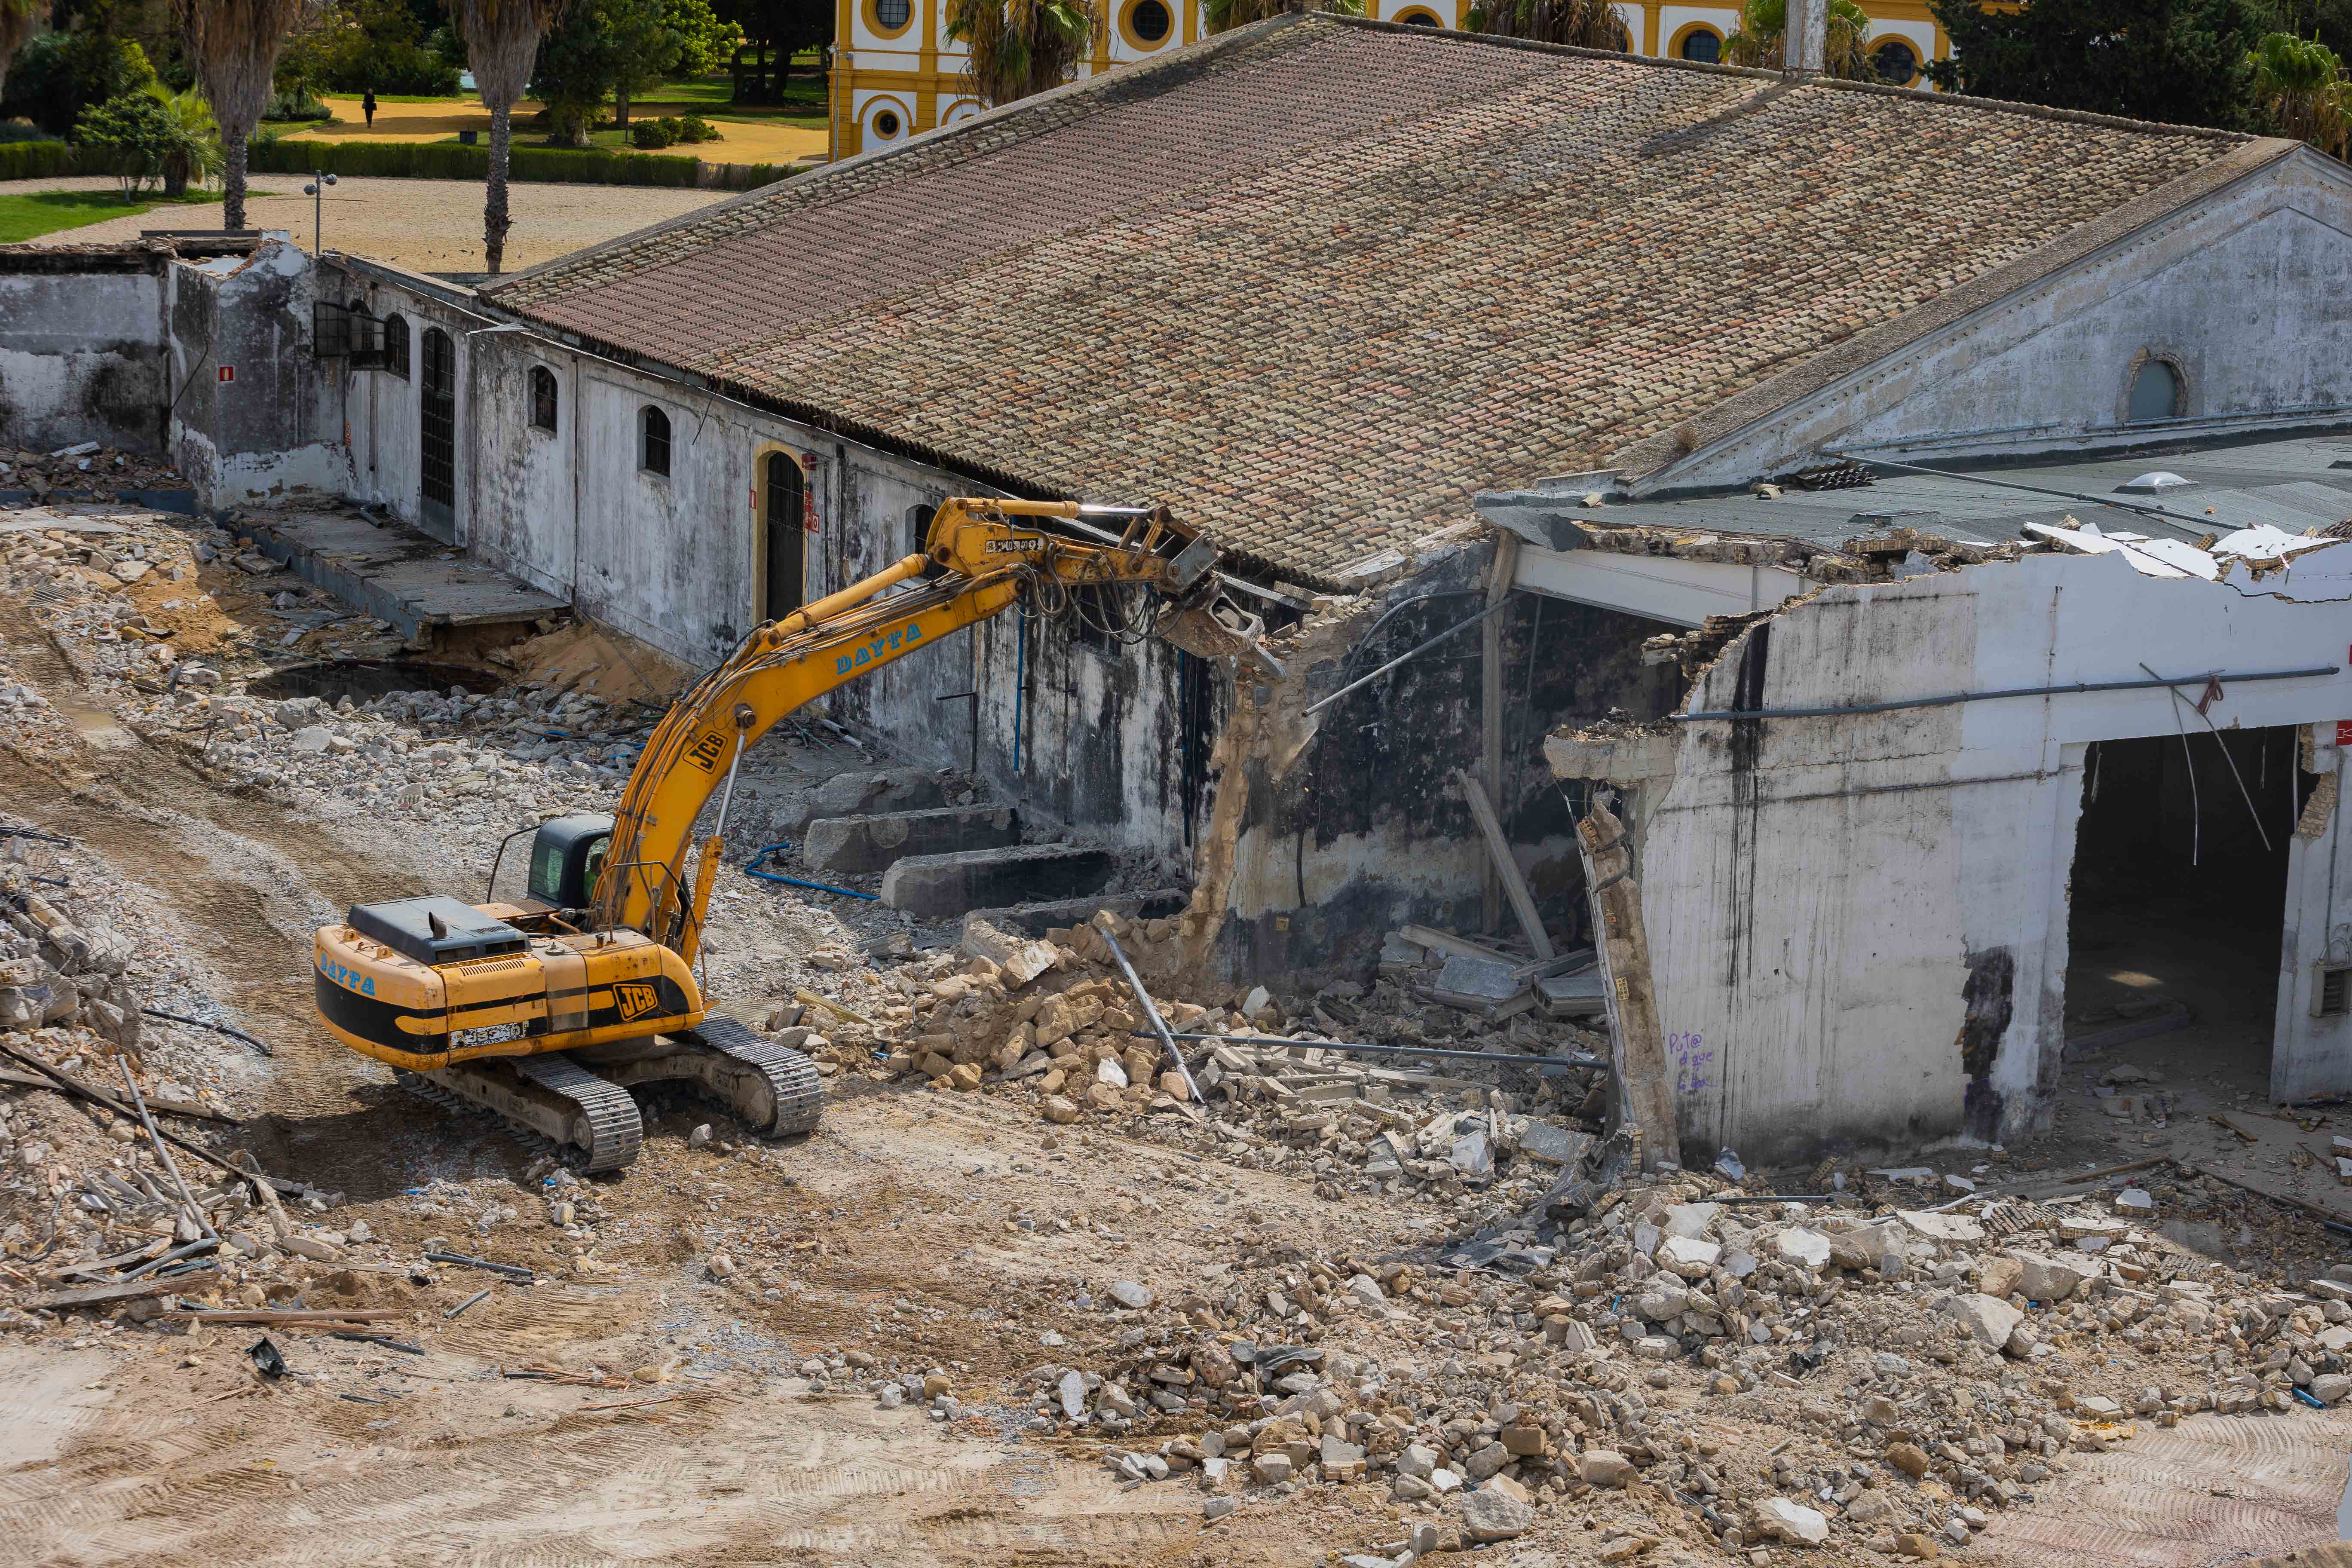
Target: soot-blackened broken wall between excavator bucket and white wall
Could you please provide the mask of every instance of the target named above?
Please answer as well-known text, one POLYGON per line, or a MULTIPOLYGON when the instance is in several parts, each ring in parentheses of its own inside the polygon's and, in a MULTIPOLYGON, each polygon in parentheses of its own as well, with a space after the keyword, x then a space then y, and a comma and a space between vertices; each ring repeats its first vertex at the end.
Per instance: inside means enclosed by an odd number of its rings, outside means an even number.
MULTIPOLYGON (((1406 922, 1479 929, 1486 849, 1446 783, 1479 755, 1477 632, 1439 642, 1315 719, 1303 710, 1484 609, 1489 559, 1491 545, 1477 543, 1376 597, 1331 602, 1284 654, 1287 682, 1242 682, 1218 752, 1214 860, 1202 863, 1192 907, 1195 931, 1214 936, 1207 966, 1225 978, 1343 973, 1367 959, 1371 938, 1406 922), (1211 912, 1223 917, 1214 933, 1211 912)), ((1496 813, 1562 945, 1583 940, 1590 917, 1573 820, 1541 738, 1571 719, 1668 712, 1679 682, 1639 654, 1658 630, 1536 595, 1503 611, 1508 733, 1496 813)), ((1512 933, 1505 914, 1503 936, 1512 933)))

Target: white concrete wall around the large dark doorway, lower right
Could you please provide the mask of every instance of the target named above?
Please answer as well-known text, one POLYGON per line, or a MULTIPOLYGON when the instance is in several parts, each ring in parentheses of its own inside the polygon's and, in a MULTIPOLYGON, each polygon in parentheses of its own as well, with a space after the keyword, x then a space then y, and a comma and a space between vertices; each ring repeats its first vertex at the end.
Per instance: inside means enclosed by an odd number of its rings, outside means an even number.
MULTIPOLYGON (((2140 661, 2338 668, 2225 679, 2211 715, 2225 729, 2314 724, 2317 766, 2340 766, 2343 604, 2143 578, 2117 557, 1828 588, 1743 632, 1686 710, 1731 708, 1743 665, 1750 705, 1804 708, 2129 679, 2140 661)), ((2084 755, 2180 724, 2161 689, 1689 724, 1642 882, 1686 1152, 1811 1159, 2044 1124, 2084 755), (1973 1023, 1971 985, 1980 1001, 1999 990, 1973 1023)), ((2328 884, 2326 870, 2340 844, 2338 827, 2291 865, 2281 985, 2298 994, 2319 954, 2352 957, 2352 875, 2328 884)), ((2352 1088, 2352 1023, 2281 1013, 2274 1065, 2300 1093, 2352 1088)))

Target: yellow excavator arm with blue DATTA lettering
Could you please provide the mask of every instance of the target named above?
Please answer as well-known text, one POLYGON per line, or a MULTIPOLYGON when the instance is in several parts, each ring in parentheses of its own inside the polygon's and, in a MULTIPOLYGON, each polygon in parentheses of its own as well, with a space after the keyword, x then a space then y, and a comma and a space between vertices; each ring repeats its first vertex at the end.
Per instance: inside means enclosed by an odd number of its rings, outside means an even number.
MULTIPOLYGON (((1014 604, 1065 604, 1073 588, 1148 588, 1230 644, 1235 623, 1247 628, 1251 618, 1211 604, 1214 567, 1214 548, 1167 508, 941 503, 922 555, 760 625, 654 726, 614 813, 595 926, 642 931, 694 961, 724 853, 736 766, 804 703, 1014 604), (722 790, 717 825, 689 886, 694 825, 722 790)), ((1240 635, 1254 642, 1247 630, 1240 635)))

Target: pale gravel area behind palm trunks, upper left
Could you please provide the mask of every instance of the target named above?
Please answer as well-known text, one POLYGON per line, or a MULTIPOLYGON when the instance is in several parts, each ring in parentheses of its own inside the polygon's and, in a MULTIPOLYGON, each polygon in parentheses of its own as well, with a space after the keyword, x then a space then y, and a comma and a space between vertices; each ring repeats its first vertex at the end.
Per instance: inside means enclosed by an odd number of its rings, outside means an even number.
MULTIPOLYGON (((113 179, 0 181, 0 195, 35 190, 108 190, 113 179)), ((299 174, 261 174, 245 221, 254 228, 289 230, 310 244, 310 197, 299 174)), ((506 270, 553 261, 588 244, 602 244, 647 223, 722 202, 729 190, 670 190, 663 186, 508 186, 515 228, 506 235, 506 270)), ((343 176, 327 193, 327 244, 374 256, 419 273, 482 270, 482 186, 463 179, 369 179, 343 176)), ((33 244, 106 244, 136 240, 146 228, 219 228, 219 205, 155 207, 85 228, 42 235, 33 244)))

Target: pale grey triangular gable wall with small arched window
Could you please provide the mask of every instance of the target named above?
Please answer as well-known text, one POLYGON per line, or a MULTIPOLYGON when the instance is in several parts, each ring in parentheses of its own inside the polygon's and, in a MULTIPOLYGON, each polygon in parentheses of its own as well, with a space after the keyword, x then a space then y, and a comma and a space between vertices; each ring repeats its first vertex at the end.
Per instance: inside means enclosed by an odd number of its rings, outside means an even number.
POLYGON ((1806 454, 1919 442, 2063 451, 2314 423, 2352 404, 2352 169, 2296 153, 1764 414, 1642 482, 1745 484, 1806 454), (2185 381, 2185 423, 2126 428, 2133 369, 2185 381), (1976 435, 1971 435, 1976 433, 1976 435))

